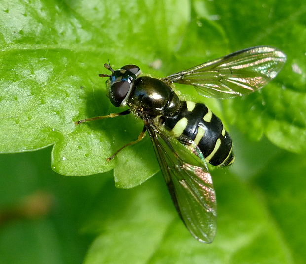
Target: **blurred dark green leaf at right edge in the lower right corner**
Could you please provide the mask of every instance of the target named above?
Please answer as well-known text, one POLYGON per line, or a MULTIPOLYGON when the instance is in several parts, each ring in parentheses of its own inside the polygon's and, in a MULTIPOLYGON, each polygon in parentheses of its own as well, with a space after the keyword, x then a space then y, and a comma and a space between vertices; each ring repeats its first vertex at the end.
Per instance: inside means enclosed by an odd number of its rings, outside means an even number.
POLYGON ((295 263, 306 260, 305 158, 283 153, 254 179, 295 263))

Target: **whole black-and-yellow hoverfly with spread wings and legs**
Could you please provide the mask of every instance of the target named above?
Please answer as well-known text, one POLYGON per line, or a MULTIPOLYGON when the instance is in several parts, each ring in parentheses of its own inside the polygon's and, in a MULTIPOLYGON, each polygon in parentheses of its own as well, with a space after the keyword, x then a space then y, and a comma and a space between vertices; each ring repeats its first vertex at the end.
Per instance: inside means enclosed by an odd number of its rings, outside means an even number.
POLYGON ((144 121, 138 139, 149 133, 164 179, 178 214, 190 233, 212 242, 216 233, 216 196, 207 162, 228 166, 234 161, 232 140, 221 120, 204 104, 180 101, 172 83, 193 85, 200 95, 218 99, 257 91, 271 81, 286 62, 286 55, 269 46, 247 48, 162 79, 140 77, 140 68, 125 65, 106 81, 107 96, 116 107, 128 110, 86 121, 129 113, 144 121))

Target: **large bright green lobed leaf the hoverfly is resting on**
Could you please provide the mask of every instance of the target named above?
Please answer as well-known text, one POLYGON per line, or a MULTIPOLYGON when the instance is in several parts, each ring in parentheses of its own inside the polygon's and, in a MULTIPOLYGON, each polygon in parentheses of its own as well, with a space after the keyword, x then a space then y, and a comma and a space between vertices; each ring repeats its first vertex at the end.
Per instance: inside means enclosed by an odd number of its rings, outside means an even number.
MULTIPOLYGON (((306 114, 301 107, 305 98, 300 96, 305 91, 302 89, 305 87, 305 56, 295 53, 291 59, 294 48, 276 42, 291 34, 287 23, 294 24, 299 30, 296 22, 300 21, 305 6, 300 6, 300 10, 286 20, 274 2, 271 2, 272 11, 268 4, 250 4, 255 13, 260 10, 262 14, 270 15, 264 20, 269 29, 265 35, 260 27, 254 26, 251 27, 252 34, 246 34, 250 30, 244 23, 246 16, 252 18, 252 25, 263 23, 263 20, 253 13, 245 14, 241 3, 236 1, 222 6, 214 2, 194 1, 190 4, 174 0, 167 4, 158 0, 116 4, 91 1, 90 5, 88 1, 35 4, 2 1, 0 151, 22 152, 54 144, 52 168, 61 174, 89 175, 116 168, 117 186, 138 185, 157 170, 156 165, 150 165, 154 155, 152 148, 143 155, 143 166, 138 168, 137 179, 126 173, 123 179, 121 168, 128 164, 127 153, 136 156, 132 159, 136 160, 139 148, 126 150, 125 155, 122 152, 121 157, 119 155, 110 163, 105 159, 135 139, 141 122, 133 127, 132 119, 126 124, 121 122, 123 118, 78 127, 73 123, 81 118, 117 111, 110 107, 104 95, 103 81, 97 77, 103 62, 111 59, 116 67, 137 63, 144 72, 150 73, 153 70, 148 65, 156 58, 162 58, 163 75, 166 75, 246 47, 233 41, 242 38, 248 46, 275 44, 282 48, 288 55, 288 65, 294 60, 294 74, 299 75, 300 81, 293 83, 292 79, 297 77, 294 75, 290 79, 284 77, 286 71, 292 75, 287 65, 282 74, 285 89, 279 88, 282 79, 278 77, 278 83, 274 82, 262 94, 227 100, 224 103, 227 117, 253 138, 266 134, 280 147, 296 152, 305 150, 306 114), (227 8, 237 12, 235 20, 231 19, 232 11, 227 8), (156 13, 156 16, 148 17, 148 12, 156 13), (121 17, 129 22, 121 23, 121 17), (273 28, 273 19, 277 18, 282 18, 283 24, 278 25, 281 30, 273 28), (233 31, 236 28, 239 30, 233 31), (275 39, 276 33, 278 39, 275 39), (196 44, 191 46, 191 43, 196 44), (298 84, 300 88, 294 88, 292 84, 298 84), (246 109, 249 110, 247 113, 246 109), (123 137, 124 131, 129 131, 130 136, 123 137), (295 140, 297 135, 301 141, 295 140)), ((301 44, 304 43, 303 36, 300 34, 297 40, 301 44)), ((177 91, 182 99, 204 101, 193 88, 178 87, 177 91)), ((214 109, 218 103, 212 105, 214 109)), ((149 149, 149 144, 146 143, 145 149, 149 149)), ((133 168, 136 167, 134 164, 133 168)))

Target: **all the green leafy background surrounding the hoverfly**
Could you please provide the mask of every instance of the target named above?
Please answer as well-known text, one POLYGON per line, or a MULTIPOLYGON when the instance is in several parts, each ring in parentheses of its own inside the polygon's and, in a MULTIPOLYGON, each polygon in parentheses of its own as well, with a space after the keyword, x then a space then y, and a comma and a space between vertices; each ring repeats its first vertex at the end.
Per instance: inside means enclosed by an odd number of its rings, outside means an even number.
POLYGON ((297 0, 2 0, 0 263, 305 263, 305 14, 297 0), (218 231, 201 244, 148 138, 105 161, 140 120, 73 121, 117 111, 97 77, 108 60, 163 77, 256 45, 288 57, 260 92, 218 101, 177 86, 222 118, 236 154, 211 171, 218 231))

